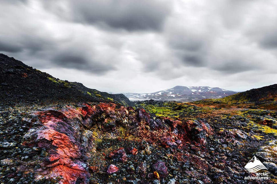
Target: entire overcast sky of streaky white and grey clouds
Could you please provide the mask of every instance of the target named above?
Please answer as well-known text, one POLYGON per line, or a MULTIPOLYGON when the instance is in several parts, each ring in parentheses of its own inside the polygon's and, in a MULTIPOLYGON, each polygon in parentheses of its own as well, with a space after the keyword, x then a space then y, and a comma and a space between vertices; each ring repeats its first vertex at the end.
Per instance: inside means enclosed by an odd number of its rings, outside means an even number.
POLYGON ((277 1, 0 0, 0 52, 106 92, 277 83, 277 1))

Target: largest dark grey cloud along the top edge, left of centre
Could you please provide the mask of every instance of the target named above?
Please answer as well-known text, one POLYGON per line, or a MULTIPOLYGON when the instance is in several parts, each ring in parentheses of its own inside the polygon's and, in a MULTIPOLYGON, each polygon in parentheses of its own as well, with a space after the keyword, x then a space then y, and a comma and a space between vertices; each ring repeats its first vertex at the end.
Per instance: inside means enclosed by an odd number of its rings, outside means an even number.
MULTIPOLYGON (((99 26, 109 26, 128 31, 159 31, 170 14, 169 0, 71 0, 70 17, 74 21, 99 26)), ((47 8, 61 15, 57 0, 45 2, 47 8)))

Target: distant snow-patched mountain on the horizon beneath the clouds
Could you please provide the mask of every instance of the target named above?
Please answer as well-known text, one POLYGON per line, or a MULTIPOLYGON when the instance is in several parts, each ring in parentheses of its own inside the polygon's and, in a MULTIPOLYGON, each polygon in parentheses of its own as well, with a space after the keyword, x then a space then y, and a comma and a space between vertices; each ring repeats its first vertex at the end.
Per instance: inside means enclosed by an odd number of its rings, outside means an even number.
POLYGON ((207 98, 222 98, 238 92, 209 86, 175 86, 162 91, 153 93, 123 93, 129 100, 169 100, 191 102, 207 98))

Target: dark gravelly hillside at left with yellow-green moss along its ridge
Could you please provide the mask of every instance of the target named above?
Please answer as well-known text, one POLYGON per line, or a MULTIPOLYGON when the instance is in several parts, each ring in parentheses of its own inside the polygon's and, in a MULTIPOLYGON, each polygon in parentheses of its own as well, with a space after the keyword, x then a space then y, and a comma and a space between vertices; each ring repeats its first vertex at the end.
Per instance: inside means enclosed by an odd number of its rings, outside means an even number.
POLYGON ((1 103, 115 101, 133 105, 123 94, 109 94, 78 82, 59 80, 4 54, 0 54, 0 81, 1 103))

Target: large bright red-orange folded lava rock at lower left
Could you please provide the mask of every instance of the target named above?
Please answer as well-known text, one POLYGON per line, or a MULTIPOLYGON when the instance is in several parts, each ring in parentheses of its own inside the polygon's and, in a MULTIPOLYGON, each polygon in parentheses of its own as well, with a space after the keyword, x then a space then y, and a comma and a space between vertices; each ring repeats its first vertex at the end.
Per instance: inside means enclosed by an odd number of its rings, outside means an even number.
POLYGON ((83 148, 74 137, 75 130, 65 123, 67 118, 81 119, 80 111, 73 108, 64 109, 63 112, 48 109, 34 112, 31 116, 38 118, 40 124, 37 123, 36 130, 30 132, 31 136, 27 137, 29 139, 24 144, 37 143, 38 147, 49 148, 48 161, 42 163, 47 169, 42 174, 52 178, 62 176, 63 184, 76 183, 77 179, 85 183, 90 174, 85 169, 84 155, 81 153, 83 148))

